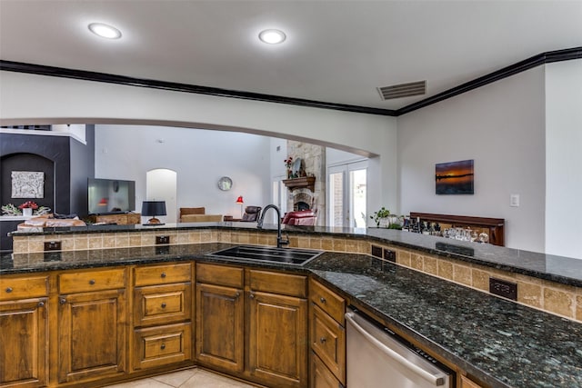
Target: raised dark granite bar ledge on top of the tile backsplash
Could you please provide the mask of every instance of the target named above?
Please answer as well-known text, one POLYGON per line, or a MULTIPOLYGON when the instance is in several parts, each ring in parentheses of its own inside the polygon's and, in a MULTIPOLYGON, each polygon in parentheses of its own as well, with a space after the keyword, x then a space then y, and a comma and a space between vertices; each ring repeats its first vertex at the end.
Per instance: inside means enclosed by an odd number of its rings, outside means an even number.
MULTIPOLYGON (((254 230, 255 223, 196 223, 165 224, 163 226, 144 225, 88 225, 77 227, 45 228, 36 231, 14 232, 15 235, 38 234, 92 234, 126 233, 144 231, 176 231, 196 228, 219 228, 226 230, 254 230)), ((266 232, 276 230, 276 225, 265 224, 266 232)), ((552 254, 540 254, 492 244, 476 244, 450 240, 424 234, 414 234, 378 228, 336 228, 324 226, 285 225, 288 234, 311 234, 335 237, 363 238, 378 244, 393 244, 427 254, 454 258, 468 263, 481 264, 517 274, 527 274, 560 284, 582 287, 582 260, 552 254)))

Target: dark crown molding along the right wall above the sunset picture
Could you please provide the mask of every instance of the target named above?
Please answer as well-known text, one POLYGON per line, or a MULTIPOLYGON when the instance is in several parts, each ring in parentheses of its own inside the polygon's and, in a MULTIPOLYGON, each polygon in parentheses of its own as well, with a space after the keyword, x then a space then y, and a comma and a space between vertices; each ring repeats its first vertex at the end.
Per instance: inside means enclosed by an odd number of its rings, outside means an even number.
POLYGON ((433 95, 431 97, 425 98, 424 100, 418 101, 417 103, 406 105, 405 107, 396 110, 396 116, 416 111, 416 109, 424 108, 431 104, 437 104, 440 101, 447 100, 448 98, 454 97, 456 95, 461 95, 473 89, 477 89, 477 87, 494 83, 500 79, 507 78, 508 76, 517 75, 518 73, 525 72, 526 70, 539 65, 550 64, 552 62, 559 61, 569 61, 579 58, 582 58, 582 47, 549 51, 547 53, 534 55, 524 61, 517 62, 517 64, 508 65, 507 67, 497 70, 496 72, 483 75, 465 84, 448 89, 445 92, 439 93, 438 95, 433 95))

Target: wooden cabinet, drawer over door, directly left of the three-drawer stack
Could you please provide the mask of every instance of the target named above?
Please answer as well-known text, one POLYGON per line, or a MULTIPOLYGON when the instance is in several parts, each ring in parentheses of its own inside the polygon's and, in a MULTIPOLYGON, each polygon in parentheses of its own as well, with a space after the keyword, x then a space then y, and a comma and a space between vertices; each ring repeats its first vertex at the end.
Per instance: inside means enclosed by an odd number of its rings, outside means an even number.
POLYGON ((125 373, 125 269, 58 276, 58 381, 125 373))

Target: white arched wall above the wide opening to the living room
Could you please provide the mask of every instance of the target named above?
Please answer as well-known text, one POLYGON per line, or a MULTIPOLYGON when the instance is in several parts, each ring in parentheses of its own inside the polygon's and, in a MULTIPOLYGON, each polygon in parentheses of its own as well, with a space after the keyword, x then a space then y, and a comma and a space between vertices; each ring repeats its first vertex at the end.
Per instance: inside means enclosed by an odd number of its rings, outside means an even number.
MULTIPOLYGON (((0 71, 0 124, 160 124, 265 134, 379 155, 375 201, 396 198, 396 119, 0 71), (382 157, 383 155, 386 157, 382 157)), ((372 173, 370 173, 372 174, 372 173)))

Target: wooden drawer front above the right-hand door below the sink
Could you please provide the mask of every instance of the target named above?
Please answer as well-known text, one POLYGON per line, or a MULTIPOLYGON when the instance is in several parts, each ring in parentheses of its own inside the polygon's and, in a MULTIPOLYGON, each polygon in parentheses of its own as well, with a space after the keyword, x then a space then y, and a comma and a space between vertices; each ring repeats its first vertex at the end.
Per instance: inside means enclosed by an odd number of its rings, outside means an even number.
POLYGON ((250 270, 249 274, 250 287, 253 291, 307 297, 306 276, 256 270, 250 270))

